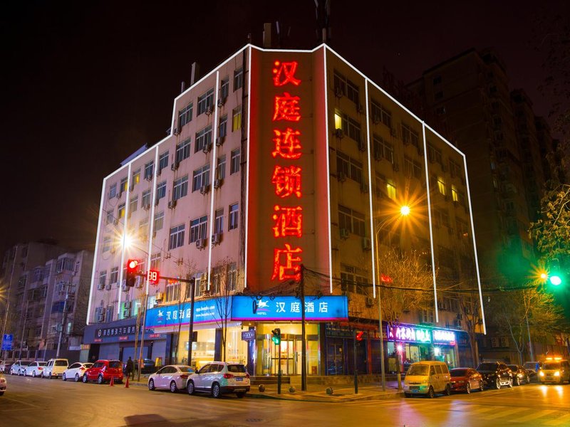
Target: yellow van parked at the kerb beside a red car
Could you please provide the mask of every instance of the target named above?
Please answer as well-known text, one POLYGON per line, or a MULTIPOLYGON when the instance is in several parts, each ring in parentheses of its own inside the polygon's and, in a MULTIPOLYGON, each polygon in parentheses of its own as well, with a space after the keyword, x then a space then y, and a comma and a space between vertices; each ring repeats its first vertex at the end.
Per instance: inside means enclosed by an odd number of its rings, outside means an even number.
POLYGON ((436 393, 451 394, 451 376, 447 364, 435 360, 410 364, 404 379, 404 396, 423 394, 431 399, 436 393))

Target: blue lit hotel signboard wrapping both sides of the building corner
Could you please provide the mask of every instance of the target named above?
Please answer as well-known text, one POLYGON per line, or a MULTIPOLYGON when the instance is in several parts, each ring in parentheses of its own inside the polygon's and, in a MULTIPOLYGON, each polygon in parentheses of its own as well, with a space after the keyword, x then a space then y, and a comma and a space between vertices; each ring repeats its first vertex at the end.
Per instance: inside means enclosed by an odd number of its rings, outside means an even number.
MULTIPOLYGON (((194 310, 195 323, 221 320, 220 310, 231 313, 229 320, 301 321, 301 300, 292 296, 212 298, 196 301, 194 310)), ((190 302, 152 308, 147 312, 146 327, 187 325, 190 315, 190 302)), ((305 297, 305 319, 313 322, 348 320, 348 299, 343 296, 305 297)))

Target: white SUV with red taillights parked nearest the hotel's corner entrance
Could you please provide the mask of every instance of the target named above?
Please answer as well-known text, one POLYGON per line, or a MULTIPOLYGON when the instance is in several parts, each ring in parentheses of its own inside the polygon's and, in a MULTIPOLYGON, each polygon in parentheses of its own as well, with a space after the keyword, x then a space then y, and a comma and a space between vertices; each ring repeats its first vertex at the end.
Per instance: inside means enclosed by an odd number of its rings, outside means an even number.
POLYGON ((216 398, 224 393, 235 393, 241 399, 249 391, 249 374, 241 363, 209 362, 190 375, 186 391, 188 394, 209 393, 216 398))

